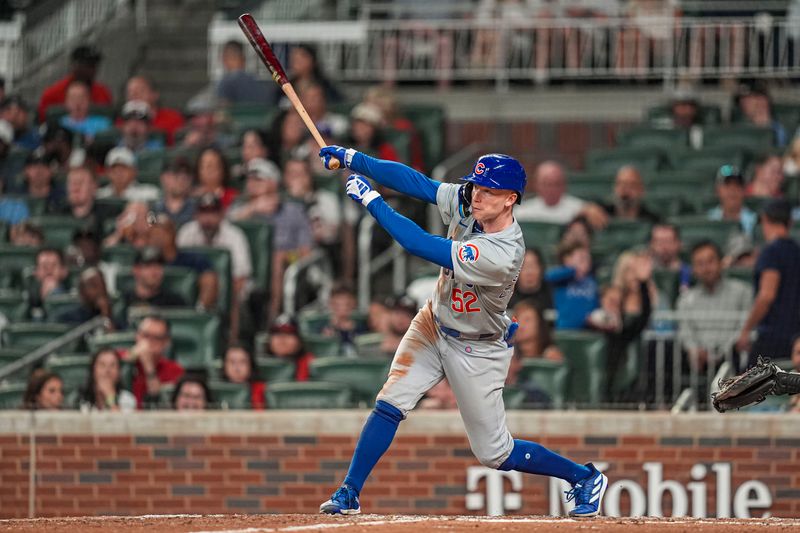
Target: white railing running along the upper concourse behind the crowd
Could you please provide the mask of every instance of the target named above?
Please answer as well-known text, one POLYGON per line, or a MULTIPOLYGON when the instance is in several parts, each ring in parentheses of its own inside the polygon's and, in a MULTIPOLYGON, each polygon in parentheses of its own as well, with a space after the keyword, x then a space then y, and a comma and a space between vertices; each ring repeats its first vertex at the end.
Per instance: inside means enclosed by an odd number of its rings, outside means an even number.
MULTIPOLYGON (((671 16, 608 19, 430 19, 262 21, 271 42, 318 46, 339 80, 510 80, 786 77, 800 75, 800 27, 747 19, 671 16)), ((222 74, 220 47, 244 42, 233 21, 209 30, 209 72, 222 74)), ((253 56, 250 68, 266 76, 253 56)))

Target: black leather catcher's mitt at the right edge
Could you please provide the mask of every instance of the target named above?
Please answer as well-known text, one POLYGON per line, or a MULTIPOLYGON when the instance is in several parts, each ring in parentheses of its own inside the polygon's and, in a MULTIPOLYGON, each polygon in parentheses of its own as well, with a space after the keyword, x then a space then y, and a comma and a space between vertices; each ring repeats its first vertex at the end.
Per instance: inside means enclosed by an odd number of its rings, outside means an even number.
POLYGON ((720 413, 763 402, 775 389, 780 369, 765 357, 758 358, 745 373, 719 380, 719 392, 711 395, 714 409, 720 413))

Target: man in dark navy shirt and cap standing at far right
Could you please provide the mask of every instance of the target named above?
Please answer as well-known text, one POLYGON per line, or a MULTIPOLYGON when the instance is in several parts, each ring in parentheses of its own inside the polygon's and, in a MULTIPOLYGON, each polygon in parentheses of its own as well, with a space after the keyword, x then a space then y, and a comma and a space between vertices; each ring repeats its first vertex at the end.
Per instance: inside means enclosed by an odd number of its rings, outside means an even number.
POLYGON ((791 221, 786 200, 771 200, 761 212, 767 245, 753 272, 753 308, 736 341, 738 350, 749 353, 748 367, 759 355, 788 359, 792 339, 800 331, 800 246, 789 236, 791 221), (751 345, 753 330, 758 337, 751 345))

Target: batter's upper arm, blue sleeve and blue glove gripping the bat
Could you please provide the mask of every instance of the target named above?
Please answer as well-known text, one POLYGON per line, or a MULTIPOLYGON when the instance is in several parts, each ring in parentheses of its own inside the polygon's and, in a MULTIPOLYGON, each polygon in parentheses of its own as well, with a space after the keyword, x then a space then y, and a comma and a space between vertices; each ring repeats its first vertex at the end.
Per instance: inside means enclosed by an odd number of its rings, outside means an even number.
POLYGON ((375 159, 353 148, 334 145, 320 150, 319 156, 322 158, 325 168, 330 168, 331 160, 336 159, 341 167, 347 167, 359 174, 369 176, 384 187, 430 204, 436 203, 436 191, 441 183, 402 163, 375 159))

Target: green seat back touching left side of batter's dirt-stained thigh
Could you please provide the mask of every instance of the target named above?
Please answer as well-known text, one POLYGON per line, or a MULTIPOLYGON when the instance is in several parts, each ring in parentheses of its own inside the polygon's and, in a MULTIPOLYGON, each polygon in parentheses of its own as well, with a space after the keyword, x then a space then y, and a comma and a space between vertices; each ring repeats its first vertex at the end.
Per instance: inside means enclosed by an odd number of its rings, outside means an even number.
POLYGON ((353 400, 371 406, 386 382, 390 364, 380 359, 322 357, 311 362, 311 377, 346 385, 353 392, 353 400))

